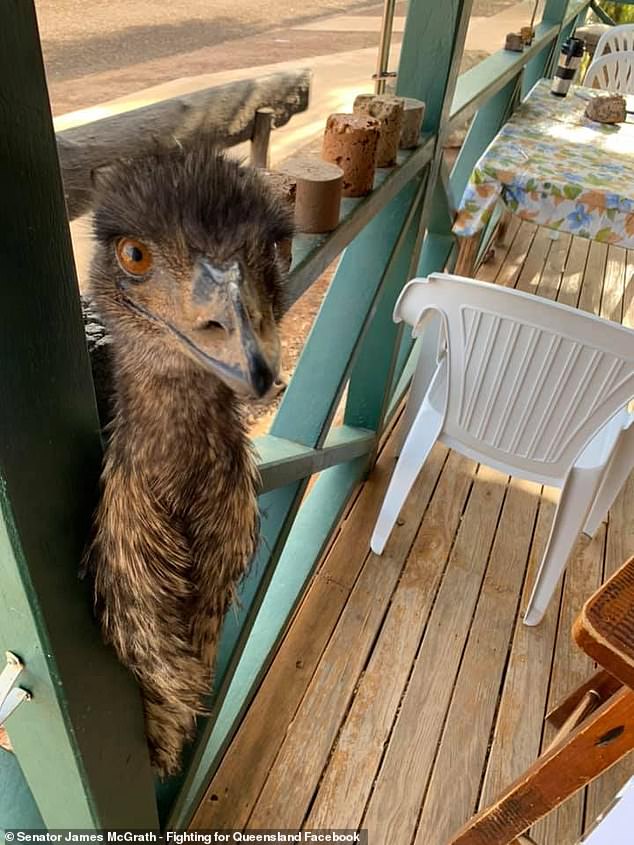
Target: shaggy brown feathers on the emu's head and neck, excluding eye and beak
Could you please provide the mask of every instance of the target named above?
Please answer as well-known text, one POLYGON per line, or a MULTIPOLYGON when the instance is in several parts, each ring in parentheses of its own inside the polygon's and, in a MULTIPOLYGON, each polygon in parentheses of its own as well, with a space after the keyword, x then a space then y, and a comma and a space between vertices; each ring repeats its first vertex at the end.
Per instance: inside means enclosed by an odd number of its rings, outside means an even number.
MULTIPOLYGON (((99 186, 91 290, 113 339, 116 411, 86 568, 105 639, 141 686, 161 775, 178 770, 193 736, 258 527, 240 400, 178 340, 189 331, 191 280, 202 259, 239 262, 264 336, 283 297, 275 243, 290 234, 260 177, 208 148, 123 163, 99 186), (153 256, 140 280, 117 263, 116 245, 129 237, 153 256)), ((201 325, 188 335, 196 343, 201 325)), ((229 337, 205 324, 218 355, 229 337)))

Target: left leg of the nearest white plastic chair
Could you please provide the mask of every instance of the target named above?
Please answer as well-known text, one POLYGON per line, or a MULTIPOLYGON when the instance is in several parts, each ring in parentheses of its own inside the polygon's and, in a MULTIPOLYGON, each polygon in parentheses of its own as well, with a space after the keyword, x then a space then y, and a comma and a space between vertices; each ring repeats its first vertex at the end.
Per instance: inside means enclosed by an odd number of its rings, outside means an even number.
POLYGON ((418 473, 442 431, 444 414, 432 407, 428 397, 443 381, 446 384, 446 373, 447 361, 445 358, 438 365, 427 396, 423 400, 403 444, 370 540, 370 548, 377 555, 383 553, 409 491, 412 489, 418 473))

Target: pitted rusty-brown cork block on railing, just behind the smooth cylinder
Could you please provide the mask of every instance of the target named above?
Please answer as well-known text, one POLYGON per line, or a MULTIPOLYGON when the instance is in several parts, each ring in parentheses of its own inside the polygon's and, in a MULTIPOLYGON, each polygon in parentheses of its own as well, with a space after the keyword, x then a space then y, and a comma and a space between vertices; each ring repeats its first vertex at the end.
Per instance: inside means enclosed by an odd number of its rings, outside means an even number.
POLYGON ((363 197, 372 190, 381 125, 363 114, 331 114, 321 148, 324 161, 343 170, 344 197, 363 197))

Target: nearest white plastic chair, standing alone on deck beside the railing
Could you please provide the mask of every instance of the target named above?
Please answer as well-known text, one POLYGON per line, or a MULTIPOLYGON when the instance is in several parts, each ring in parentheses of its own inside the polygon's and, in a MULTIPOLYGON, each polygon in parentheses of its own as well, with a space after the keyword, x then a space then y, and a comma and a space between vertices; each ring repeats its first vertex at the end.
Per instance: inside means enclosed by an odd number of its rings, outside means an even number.
POLYGON ((594 533, 634 467, 634 331, 498 285, 434 274, 394 309, 417 336, 440 315, 435 372, 408 408, 413 422, 370 542, 381 554, 437 440, 506 474, 561 489, 528 608, 541 621, 583 530, 594 533))

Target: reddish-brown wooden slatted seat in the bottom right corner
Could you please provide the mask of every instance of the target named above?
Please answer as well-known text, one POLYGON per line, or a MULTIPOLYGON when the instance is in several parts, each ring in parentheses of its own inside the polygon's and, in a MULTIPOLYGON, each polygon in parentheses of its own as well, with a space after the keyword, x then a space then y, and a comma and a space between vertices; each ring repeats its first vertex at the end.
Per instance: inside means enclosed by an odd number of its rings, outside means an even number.
POLYGON ((603 668, 548 714, 552 744, 451 845, 510 845, 634 748, 634 557, 585 603, 573 637, 603 668))

